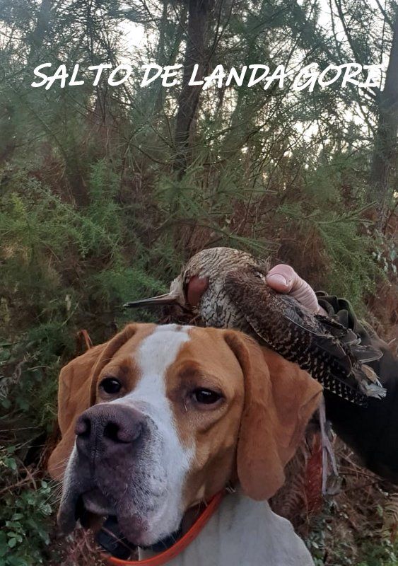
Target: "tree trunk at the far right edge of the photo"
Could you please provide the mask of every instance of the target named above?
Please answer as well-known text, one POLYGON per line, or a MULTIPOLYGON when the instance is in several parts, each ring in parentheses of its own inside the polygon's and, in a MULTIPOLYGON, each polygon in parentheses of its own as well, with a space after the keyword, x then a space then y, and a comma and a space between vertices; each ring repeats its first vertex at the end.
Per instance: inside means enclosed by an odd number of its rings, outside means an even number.
POLYGON ((384 91, 380 93, 379 121, 370 175, 370 196, 377 202, 379 229, 385 228, 397 165, 398 134, 398 11, 395 15, 390 62, 384 91))

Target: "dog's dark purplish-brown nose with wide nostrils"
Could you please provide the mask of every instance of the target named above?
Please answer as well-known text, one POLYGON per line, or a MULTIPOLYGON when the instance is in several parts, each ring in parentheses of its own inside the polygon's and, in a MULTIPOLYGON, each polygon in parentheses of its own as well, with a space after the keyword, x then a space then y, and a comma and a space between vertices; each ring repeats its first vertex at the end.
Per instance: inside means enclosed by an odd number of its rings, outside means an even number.
POLYGON ((76 421, 76 446, 83 452, 112 452, 119 445, 136 443, 145 421, 146 417, 134 408, 111 403, 94 405, 76 421))

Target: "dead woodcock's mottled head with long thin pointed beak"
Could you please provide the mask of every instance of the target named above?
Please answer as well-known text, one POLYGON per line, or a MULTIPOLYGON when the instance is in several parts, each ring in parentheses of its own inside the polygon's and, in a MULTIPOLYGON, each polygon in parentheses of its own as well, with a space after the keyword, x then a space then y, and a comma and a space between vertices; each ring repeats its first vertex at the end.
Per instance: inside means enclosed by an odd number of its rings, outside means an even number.
POLYGON ((179 305, 197 313, 201 297, 213 282, 223 274, 242 266, 258 265, 252 255, 233 248, 210 248, 192 256, 178 277, 170 284, 170 291, 125 304, 125 307, 179 305))

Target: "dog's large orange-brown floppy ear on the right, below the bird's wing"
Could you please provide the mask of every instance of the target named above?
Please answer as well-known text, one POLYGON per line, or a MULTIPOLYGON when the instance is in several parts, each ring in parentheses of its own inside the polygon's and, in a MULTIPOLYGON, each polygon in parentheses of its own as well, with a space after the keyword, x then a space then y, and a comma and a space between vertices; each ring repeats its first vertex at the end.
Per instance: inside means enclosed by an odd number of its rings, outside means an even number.
POLYGON ((227 331, 226 342, 245 380, 238 478, 246 495, 269 499, 283 485, 283 468, 320 403, 322 386, 296 364, 241 333, 227 331))

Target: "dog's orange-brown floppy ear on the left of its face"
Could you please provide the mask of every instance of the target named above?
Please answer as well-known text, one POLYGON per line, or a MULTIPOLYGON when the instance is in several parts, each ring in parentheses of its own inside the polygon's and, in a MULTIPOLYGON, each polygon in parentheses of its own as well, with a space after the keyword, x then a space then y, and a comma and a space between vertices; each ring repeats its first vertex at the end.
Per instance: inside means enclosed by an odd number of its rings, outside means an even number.
POLYGON ((95 402, 98 376, 117 350, 134 335, 136 325, 127 325, 109 342, 90 348, 64 366, 59 374, 58 423, 61 440, 49 456, 49 475, 61 480, 74 447, 76 418, 95 402))

